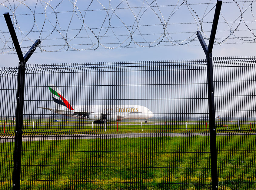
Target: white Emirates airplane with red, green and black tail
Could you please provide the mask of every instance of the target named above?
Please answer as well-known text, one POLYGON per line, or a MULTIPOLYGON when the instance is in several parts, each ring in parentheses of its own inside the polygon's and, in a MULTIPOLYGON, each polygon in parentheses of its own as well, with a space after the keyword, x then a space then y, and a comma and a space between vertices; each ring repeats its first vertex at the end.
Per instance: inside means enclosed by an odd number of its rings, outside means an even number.
POLYGON ((93 120, 94 123, 118 121, 122 119, 148 119, 154 114, 145 106, 139 105, 71 105, 54 84, 48 85, 52 99, 59 105, 56 108, 44 108, 57 114, 80 119, 93 120))

